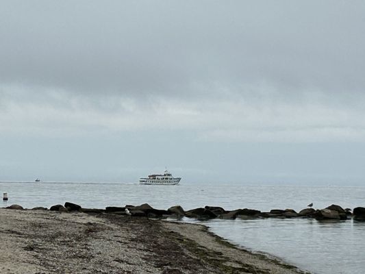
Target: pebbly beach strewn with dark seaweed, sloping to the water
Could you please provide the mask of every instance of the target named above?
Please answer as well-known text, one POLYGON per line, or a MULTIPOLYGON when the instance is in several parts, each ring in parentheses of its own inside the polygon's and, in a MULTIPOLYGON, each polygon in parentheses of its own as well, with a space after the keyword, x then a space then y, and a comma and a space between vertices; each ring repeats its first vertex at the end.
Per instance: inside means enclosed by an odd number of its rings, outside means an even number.
POLYGON ((308 273, 205 225, 118 214, 0 208, 0 272, 308 273))

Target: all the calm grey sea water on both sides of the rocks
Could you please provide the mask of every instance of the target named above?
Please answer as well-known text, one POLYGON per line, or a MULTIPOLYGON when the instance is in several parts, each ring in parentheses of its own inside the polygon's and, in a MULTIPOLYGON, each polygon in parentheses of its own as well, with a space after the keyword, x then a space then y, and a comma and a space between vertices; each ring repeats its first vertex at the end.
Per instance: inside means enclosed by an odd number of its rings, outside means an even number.
MULTIPOLYGON (((84 208, 149 203, 185 210, 221 206, 226 210, 253 208, 301 210, 336 203, 343 208, 365 206, 365 187, 244 186, 242 184, 189 184, 147 186, 125 183, 0 182, 0 192, 25 208, 50 207, 71 201, 84 208)), ((1 207, 1 202, 0 202, 1 207)), ((184 219, 188 222, 197 222, 184 219)), ((365 271, 365 223, 353 220, 318 222, 312 219, 211 220, 212 232, 242 247, 278 256, 313 273, 362 274, 365 271)))

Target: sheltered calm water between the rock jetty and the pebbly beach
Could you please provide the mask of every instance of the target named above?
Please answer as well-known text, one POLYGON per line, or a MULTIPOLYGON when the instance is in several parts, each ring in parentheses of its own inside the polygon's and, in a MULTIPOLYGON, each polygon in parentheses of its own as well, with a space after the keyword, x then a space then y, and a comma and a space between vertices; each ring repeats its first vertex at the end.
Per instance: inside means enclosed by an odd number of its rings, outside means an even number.
POLYGON ((208 225, 212 232, 240 247, 272 254, 312 273, 365 271, 365 223, 313 219, 184 221, 208 225))

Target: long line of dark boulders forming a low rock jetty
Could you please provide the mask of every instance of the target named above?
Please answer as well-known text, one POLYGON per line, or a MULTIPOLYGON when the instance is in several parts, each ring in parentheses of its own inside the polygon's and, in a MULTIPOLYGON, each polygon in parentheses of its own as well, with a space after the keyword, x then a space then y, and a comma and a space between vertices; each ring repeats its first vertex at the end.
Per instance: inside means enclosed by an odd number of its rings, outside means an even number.
MULTIPOLYGON (((8 206, 7 209, 13 210, 27 210, 19 205, 8 206)), ((43 207, 32 208, 32 210, 48 210, 43 207)), ((131 217, 148 217, 148 218, 176 218, 181 217, 194 218, 199 220, 205 219, 251 219, 251 218, 312 218, 318 221, 325 220, 347 220, 352 217, 356 221, 365 220, 365 208, 357 207, 353 209, 343 209, 341 206, 332 204, 327 208, 317 209, 304 208, 299 212, 287 209, 273 209, 269 212, 261 212, 249 208, 238 208, 236 210, 225 210, 220 206, 205 206, 204 208, 193 208, 191 210, 184 210, 181 206, 171 206, 167 210, 156 209, 151 207, 148 203, 143 203, 139 206, 125 205, 125 206, 108 206, 105 209, 98 208, 82 208, 76 203, 66 202, 64 205, 54 205, 49 208, 50 211, 55 212, 84 212, 88 214, 116 214, 131 217)))

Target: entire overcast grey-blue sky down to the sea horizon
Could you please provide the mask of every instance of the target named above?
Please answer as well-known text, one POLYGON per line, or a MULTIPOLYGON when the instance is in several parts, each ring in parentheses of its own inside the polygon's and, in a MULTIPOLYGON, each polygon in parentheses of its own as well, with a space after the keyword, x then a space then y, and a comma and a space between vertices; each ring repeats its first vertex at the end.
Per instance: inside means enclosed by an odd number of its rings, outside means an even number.
POLYGON ((0 180, 365 185, 364 1, 1 1, 0 180))

